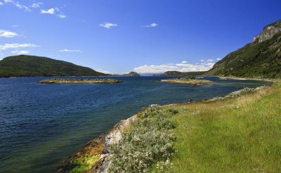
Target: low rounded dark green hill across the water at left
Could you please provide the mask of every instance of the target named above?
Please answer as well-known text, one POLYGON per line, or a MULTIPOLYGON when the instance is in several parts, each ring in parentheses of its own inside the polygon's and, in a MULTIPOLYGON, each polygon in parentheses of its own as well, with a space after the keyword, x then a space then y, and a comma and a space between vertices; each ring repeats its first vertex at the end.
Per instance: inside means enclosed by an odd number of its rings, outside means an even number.
POLYGON ((105 75, 91 68, 41 56, 9 56, 0 60, 0 77, 105 75))

